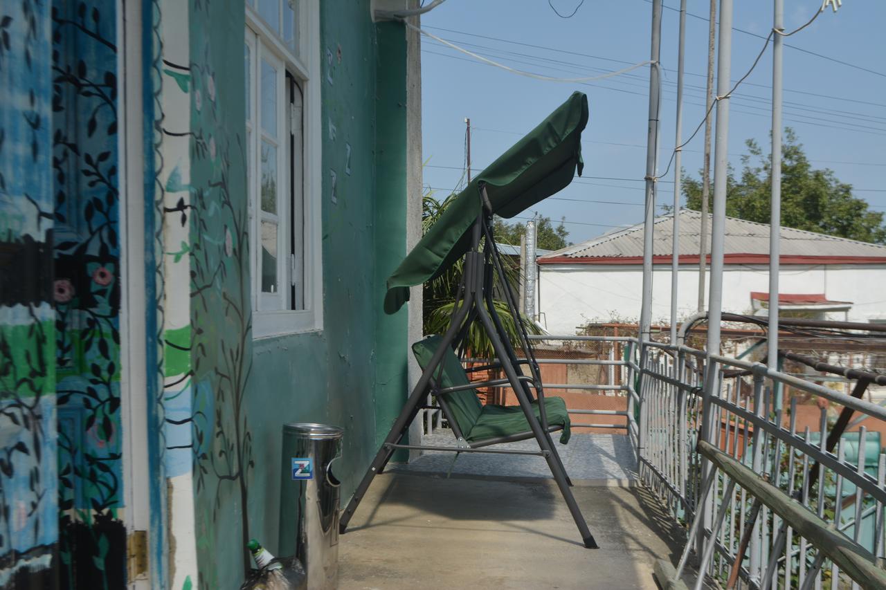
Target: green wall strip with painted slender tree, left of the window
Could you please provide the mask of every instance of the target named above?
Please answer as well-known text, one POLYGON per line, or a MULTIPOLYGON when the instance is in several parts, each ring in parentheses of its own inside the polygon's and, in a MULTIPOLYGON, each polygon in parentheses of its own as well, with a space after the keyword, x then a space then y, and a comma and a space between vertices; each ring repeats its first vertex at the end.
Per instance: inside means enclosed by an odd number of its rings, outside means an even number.
POLYGON ((257 427, 252 369, 242 2, 190 2, 190 326, 194 512, 200 586, 252 567, 246 506, 257 427))

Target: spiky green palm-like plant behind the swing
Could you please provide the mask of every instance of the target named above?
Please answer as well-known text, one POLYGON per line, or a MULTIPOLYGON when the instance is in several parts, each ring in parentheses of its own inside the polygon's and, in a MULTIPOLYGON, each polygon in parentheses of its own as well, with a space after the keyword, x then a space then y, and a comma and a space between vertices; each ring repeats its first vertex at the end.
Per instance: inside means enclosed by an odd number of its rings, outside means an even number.
MULTIPOLYGON (((439 219, 440 215, 447 210, 447 207, 455 200, 456 195, 449 195, 442 201, 438 201, 433 197, 431 190, 428 190, 422 199, 422 233, 427 233, 428 229, 439 219)), ((507 256, 502 257, 505 264, 505 274, 508 275, 507 280, 511 284, 517 283, 517 273, 519 269, 513 260, 509 260, 507 256)), ((425 334, 442 334, 449 326, 452 317, 453 307, 455 306, 455 293, 462 282, 462 260, 456 260, 450 268, 435 279, 424 284, 423 290, 423 329, 425 334)), ((501 293, 502 283, 501 277, 495 274, 495 292, 501 293)), ((508 333, 511 343, 517 345, 519 341, 518 324, 514 316, 510 314, 507 304, 501 297, 494 299, 494 307, 501 318, 501 324, 508 333)), ((538 327, 522 314, 520 321, 526 327, 530 334, 539 334, 538 327)), ((479 320, 475 320, 468 332, 468 348, 470 352, 478 357, 493 358, 495 352, 489 338, 486 337, 486 330, 479 320)))

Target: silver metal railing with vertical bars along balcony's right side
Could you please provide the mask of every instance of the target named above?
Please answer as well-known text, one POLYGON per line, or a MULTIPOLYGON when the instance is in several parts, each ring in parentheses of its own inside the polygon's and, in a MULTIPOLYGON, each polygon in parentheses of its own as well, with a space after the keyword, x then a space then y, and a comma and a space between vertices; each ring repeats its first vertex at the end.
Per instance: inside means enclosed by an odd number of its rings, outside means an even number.
MULTIPOLYGON (((701 510, 696 555, 710 546, 704 571, 726 584, 734 568, 750 587, 859 587, 816 547, 727 474, 711 472, 697 453, 699 439, 750 467, 787 497, 818 516, 882 567, 886 454, 879 433, 864 426, 826 447, 828 413, 815 408, 817 428, 797 427, 798 395, 828 400, 886 420, 886 409, 785 373, 687 346, 642 343, 640 476, 688 524, 701 510), (712 391, 704 377, 714 371, 712 391), (783 392, 795 393, 785 408, 783 392), (703 487, 710 481, 710 489, 703 487), (707 493, 705 493, 707 492, 707 493), (746 530, 747 529, 747 530, 746 530)), ((806 405, 804 409, 811 409, 806 405)), ((805 412, 808 414, 808 412, 805 412)), ((822 552, 821 549, 826 549, 822 552)))

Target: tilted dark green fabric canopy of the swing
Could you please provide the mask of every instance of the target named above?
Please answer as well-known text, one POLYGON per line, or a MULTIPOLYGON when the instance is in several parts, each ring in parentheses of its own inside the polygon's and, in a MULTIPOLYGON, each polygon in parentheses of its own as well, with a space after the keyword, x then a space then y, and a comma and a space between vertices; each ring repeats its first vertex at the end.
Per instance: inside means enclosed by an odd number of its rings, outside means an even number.
POLYGON ((409 299, 409 287, 439 276, 470 248, 470 227, 481 213, 479 184, 493 213, 510 218, 572 182, 584 167, 581 132, 587 125, 587 96, 572 96, 517 144, 478 174, 447 207, 437 223, 400 262, 387 281, 385 313, 409 299))

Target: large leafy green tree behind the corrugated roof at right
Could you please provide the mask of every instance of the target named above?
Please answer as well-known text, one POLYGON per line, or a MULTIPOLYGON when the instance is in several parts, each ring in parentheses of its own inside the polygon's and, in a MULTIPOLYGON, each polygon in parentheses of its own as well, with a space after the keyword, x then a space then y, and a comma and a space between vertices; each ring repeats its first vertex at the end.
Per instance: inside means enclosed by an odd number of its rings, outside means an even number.
MULTIPOLYGON (((726 214, 748 221, 769 223, 772 168, 769 154, 749 139, 742 156, 742 176, 730 167, 727 176, 726 214)), ((683 176, 686 206, 701 209, 702 182, 683 176)), ((781 225, 848 237, 874 244, 886 243, 883 213, 871 211, 867 201, 852 196, 852 185, 837 180, 834 172, 812 167, 793 129, 786 128, 781 145, 781 225)))

